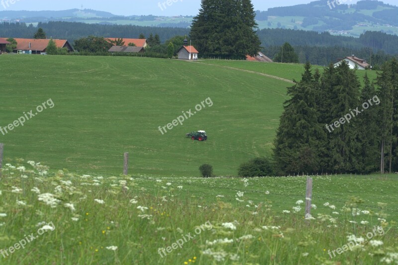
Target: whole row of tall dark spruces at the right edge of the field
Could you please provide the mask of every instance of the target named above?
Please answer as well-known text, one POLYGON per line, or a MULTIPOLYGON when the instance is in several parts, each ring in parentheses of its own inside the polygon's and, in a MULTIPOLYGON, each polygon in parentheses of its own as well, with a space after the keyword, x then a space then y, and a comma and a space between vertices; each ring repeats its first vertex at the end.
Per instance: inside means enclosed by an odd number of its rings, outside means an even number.
POLYGON ((288 88, 275 139, 276 174, 398 170, 398 61, 386 63, 375 83, 365 74, 362 87, 345 62, 322 75, 309 63, 304 68, 301 81, 288 88))

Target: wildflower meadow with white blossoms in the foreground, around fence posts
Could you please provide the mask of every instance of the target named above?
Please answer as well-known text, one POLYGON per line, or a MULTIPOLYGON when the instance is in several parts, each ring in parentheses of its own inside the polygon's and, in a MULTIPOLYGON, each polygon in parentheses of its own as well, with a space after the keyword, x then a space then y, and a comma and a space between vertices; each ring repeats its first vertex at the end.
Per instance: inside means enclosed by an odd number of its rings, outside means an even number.
POLYGON ((304 220, 306 177, 47 175, 29 164, 5 166, 0 181, 1 264, 398 262, 397 176, 313 177, 304 220))

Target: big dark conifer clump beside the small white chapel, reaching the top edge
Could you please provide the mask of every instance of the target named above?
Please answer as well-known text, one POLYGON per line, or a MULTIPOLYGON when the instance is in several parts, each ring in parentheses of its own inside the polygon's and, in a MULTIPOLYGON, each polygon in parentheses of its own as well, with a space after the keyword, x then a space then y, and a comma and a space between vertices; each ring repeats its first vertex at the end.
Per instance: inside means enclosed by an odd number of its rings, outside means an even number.
POLYGON ((251 0, 202 0, 191 28, 203 56, 244 59, 260 51, 251 0))

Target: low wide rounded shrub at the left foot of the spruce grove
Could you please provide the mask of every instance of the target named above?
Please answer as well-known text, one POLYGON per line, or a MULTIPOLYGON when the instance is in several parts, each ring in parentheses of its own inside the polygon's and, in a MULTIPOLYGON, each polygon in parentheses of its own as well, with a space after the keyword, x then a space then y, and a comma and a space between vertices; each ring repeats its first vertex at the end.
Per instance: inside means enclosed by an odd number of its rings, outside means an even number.
POLYGON ((243 163, 238 169, 239 177, 274 176, 272 162, 268 158, 255 158, 243 163))

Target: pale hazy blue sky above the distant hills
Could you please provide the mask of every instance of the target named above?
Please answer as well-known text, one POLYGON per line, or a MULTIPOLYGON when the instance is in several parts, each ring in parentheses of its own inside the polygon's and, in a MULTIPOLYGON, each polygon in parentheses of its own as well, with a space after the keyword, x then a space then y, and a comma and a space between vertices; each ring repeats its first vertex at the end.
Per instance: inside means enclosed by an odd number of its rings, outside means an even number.
MULTIPOLYGON (((1 0, 0 0, 1 1, 1 0)), ((3 0, 6 1, 6 0, 3 0)), ((169 0, 175 1, 170 6, 167 0, 16 0, 14 4, 2 10, 65 10, 72 8, 90 8, 108 11, 116 15, 196 15, 200 7, 200 0, 169 0), (165 3, 165 5, 162 5, 165 3), (160 7, 159 7, 160 5, 160 7), (166 8, 164 8, 166 6, 166 8)), ((327 0, 325 6, 327 6, 327 0)), ((330 0, 331 1, 331 0, 330 0)), ((357 0, 342 0, 345 3, 354 3, 357 0)), ((309 3, 311 0, 252 0, 256 10, 267 10, 269 7, 288 6, 309 3)), ((385 3, 397 5, 397 0, 384 0, 385 3)))

